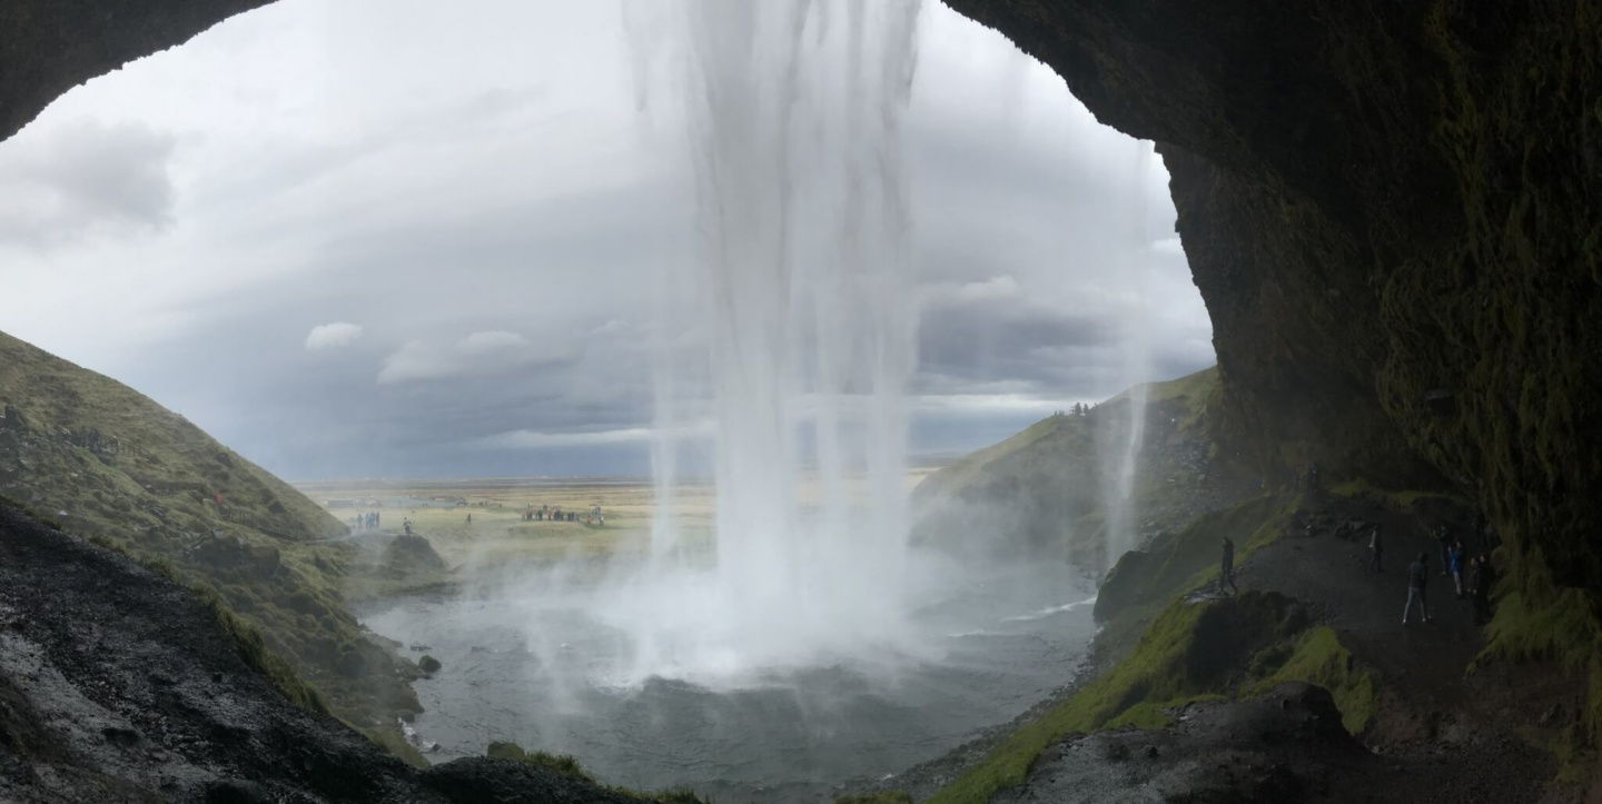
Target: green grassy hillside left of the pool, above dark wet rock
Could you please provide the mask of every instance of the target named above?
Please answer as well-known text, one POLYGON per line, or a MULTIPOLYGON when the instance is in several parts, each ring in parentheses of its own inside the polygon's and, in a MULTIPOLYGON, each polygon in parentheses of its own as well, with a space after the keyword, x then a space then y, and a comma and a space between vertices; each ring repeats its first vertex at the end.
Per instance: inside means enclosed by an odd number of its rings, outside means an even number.
POLYGON ((317 543, 341 522, 183 416, 5 333, 0 495, 215 589, 352 724, 417 710, 407 663, 344 609, 357 556, 317 543))

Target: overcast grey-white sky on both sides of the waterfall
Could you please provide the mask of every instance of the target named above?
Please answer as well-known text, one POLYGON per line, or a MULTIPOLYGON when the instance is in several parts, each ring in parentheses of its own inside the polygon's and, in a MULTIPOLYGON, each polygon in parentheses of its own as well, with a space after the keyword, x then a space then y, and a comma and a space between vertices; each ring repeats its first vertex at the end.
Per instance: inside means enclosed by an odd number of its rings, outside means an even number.
MULTIPOLYGON (((686 189, 625 11, 279 0, 74 88, 0 143, 0 332, 288 479, 646 472, 686 189)), ((1149 144, 916 43, 912 453, 1211 365, 1149 144)))

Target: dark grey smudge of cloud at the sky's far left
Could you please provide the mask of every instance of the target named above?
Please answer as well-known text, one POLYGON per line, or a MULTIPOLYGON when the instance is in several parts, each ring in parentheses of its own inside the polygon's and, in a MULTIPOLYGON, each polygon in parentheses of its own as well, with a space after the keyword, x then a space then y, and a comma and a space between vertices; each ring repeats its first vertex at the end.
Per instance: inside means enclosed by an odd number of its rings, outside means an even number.
POLYGON ((99 229, 167 227, 175 144, 135 122, 24 130, 0 149, 0 243, 46 247, 99 229))

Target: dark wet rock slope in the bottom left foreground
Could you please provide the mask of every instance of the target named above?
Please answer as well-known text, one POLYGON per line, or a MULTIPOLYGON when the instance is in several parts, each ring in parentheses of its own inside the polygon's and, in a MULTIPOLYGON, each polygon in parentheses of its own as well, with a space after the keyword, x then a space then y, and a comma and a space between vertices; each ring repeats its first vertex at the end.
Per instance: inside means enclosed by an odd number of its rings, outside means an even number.
POLYGON ((638 799, 505 761, 413 769, 290 703, 187 589, 0 506, 0 801, 638 799))

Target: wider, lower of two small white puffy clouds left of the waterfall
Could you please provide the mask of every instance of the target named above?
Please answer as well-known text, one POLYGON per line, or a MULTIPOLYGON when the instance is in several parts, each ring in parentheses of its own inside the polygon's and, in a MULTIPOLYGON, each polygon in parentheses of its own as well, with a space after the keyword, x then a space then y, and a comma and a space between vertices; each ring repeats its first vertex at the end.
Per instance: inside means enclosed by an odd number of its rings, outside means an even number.
POLYGON ((577 357, 578 352, 566 344, 533 344, 505 330, 476 332, 450 346, 413 340, 384 357, 378 384, 569 365, 577 357))

